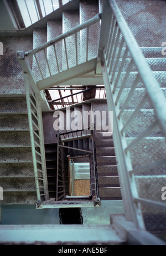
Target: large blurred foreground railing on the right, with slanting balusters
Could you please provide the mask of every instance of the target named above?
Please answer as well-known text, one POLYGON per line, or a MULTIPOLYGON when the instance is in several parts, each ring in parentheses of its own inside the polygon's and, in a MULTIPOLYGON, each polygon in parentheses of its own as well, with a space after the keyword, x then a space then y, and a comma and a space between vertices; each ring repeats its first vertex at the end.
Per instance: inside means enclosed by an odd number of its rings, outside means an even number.
MULTIPOLYGON (((137 228, 145 229, 143 207, 150 206, 165 210, 166 204, 162 201, 153 201, 147 198, 147 195, 145 195, 146 198, 140 198, 135 175, 145 174, 146 171, 166 165, 166 159, 163 155, 162 159, 155 159, 153 163, 151 159, 149 163, 146 159, 142 164, 138 163, 133 166, 132 157, 134 150, 140 145, 139 142, 143 142, 152 132, 157 131, 160 136, 166 135, 166 100, 114 0, 108 1, 103 10, 101 37, 103 31, 105 39, 99 46, 98 56, 102 58, 108 109, 113 110, 114 115, 113 136, 115 137, 125 216, 127 220, 133 221, 137 228), (108 27, 106 27, 107 24, 108 27), (129 88, 128 83, 131 84, 129 88), (137 88, 140 83, 145 92, 141 97, 137 97, 135 93, 138 92, 137 88), (125 96, 126 88, 128 92, 125 96), (126 119, 125 111, 128 109, 128 104, 133 104, 133 106, 130 111, 131 115, 126 119), (139 118, 140 111, 145 105, 148 106, 147 109, 151 108, 154 111, 154 116, 147 126, 143 125, 139 118), (135 120, 140 130, 137 129, 137 135, 134 135, 128 142, 127 137, 131 134, 131 126, 135 120)), ((148 147, 147 149, 146 146, 143 147, 142 154, 148 156, 148 147)))

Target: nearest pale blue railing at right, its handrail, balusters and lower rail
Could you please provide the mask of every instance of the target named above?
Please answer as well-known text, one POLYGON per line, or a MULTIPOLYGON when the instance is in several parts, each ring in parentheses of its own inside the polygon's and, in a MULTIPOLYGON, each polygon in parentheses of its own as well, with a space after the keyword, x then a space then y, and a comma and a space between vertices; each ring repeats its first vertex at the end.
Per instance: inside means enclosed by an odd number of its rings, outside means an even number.
MULTIPOLYGON (((101 58, 101 67, 106 88, 108 109, 113 110, 114 115, 114 136, 116 137, 114 144, 118 160, 118 173, 121 180, 125 217, 128 221, 132 221, 134 225, 136 225, 137 229, 146 229, 141 205, 145 204, 146 206, 152 206, 153 208, 158 209, 166 209, 166 205, 160 201, 152 201, 139 197, 134 174, 152 170, 152 163, 141 166, 141 168, 137 168, 136 166, 136 168, 133 169, 129 150, 138 145, 138 142, 142 141, 144 137, 151 133, 157 125, 160 126, 160 130, 162 130, 163 135, 166 136, 166 99, 160 90, 157 80, 153 76, 151 68, 139 49, 136 39, 132 35, 125 18, 123 18, 120 9, 117 7, 115 0, 105 2, 101 24, 98 58, 101 58), (107 24, 108 26, 106 26, 107 24), (102 37, 104 34, 105 39, 102 42, 102 37), (121 40, 120 35, 122 36, 121 40), (120 44, 118 45, 119 42, 120 44), (126 43, 125 53, 123 54, 121 65, 120 68, 118 68, 115 79, 115 72, 117 71, 118 63, 120 63, 120 56, 122 54, 124 43, 126 43), (126 64, 125 61, 128 53, 131 54, 131 61, 128 67, 126 67, 125 77, 122 80, 120 76, 123 67, 126 64), (115 62, 113 63, 113 61, 115 62), (134 83, 132 84, 127 99, 125 103, 122 104, 122 109, 120 110, 118 100, 120 99, 122 91, 125 88, 133 65, 136 66, 137 76, 133 79, 134 83), (117 90, 118 93, 115 93, 117 84, 120 81, 121 85, 120 88, 118 88, 119 91, 117 90), (129 120, 126 121, 125 125, 123 125, 121 119, 122 112, 126 109, 128 102, 132 99, 134 90, 136 89, 139 81, 143 82, 146 88, 146 94, 140 100, 138 106, 133 111, 133 114, 129 117, 129 120), (155 121, 152 121, 152 124, 143 130, 141 135, 127 145, 125 135, 126 127, 131 124, 134 117, 138 114, 138 111, 146 104, 146 101, 149 101, 154 109, 155 121)), ((157 160, 153 164, 155 168, 157 166, 163 166, 165 165, 165 159, 157 160)))

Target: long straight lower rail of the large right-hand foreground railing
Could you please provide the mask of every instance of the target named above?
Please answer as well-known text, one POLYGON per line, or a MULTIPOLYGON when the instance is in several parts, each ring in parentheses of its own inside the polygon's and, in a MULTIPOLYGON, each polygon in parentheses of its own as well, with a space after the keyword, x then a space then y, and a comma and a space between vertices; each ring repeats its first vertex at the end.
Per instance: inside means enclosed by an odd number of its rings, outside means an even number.
MULTIPOLYGON (((128 221, 133 221, 136 227, 139 229, 144 229, 144 221, 141 214, 141 209, 137 208, 133 201, 133 194, 137 194, 136 184, 134 183, 133 177, 129 177, 128 170, 132 169, 131 159, 128 154, 124 154, 123 148, 126 147, 126 139, 121 135, 119 127, 122 126, 121 120, 117 120, 116 107, 114 104, 115 99, 111 92, 110 78, 107 72, 106 62, 102 63, 102 73, 103 81, 105 84, 106 95, 107 95, 107 105, 108 110, 113 110, 113 135, 115 137, 115 151, 117 156, 118 174, 120 177, 121 193, 123 199, 123 206, 125 210, 125 218, 128 221), (117 151, 118 149, 118 151, 117 151), (133 185, 133 190, 131 190, 131 182, 133 185), (134 183, 134 184, 133 184, 134 183)), ((115 96, 115 95, 114 95, 115 96)), ((137 195, 138 196, 138 195, 137 195)), ((136 196, 136 197, 137 197, 136 196)))

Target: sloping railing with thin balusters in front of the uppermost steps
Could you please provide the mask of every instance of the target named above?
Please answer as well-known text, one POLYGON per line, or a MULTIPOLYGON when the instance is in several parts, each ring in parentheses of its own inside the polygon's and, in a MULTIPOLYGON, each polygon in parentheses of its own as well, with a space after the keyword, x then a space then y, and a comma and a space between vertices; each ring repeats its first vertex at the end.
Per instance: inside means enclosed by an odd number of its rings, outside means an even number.
MULTIPOLYGON (((61 72, 77 67, 78 70, 70 72, 70 76, 74 77, 75 73, 85 72, 84 70, 79 71, 78 66, 81 63, 94 59, 96 61, 98 46, 96 43, 96 40, 98 40, 98 29, 96 29, 96 26, 99 26, 98 22, 100 19, 101 14, 97 14, 94 18, 89 19, 89 21, 70 29, 68 32, 55 37, 38 48, 25 52, 25 57, 28 60, 32 58, 32 72, 35 79, 38 82, 42 82, 47 78, 44 82, 45 84, 40 83, 40 89, 48 88, 48 85, 54 85, 58 79, 56 77, 55 80, 54 75, 59 74, 61 77, 61 72), (83 37, 84 40, 82 40, 83 37), (96 47, 93 47, 93 42, 95 42, 96 47)), ((65 76, 68 75, 66 74, 65 76)), ((65 76, 63 77, 64 80, 65 76)))

